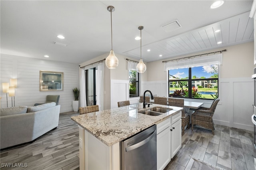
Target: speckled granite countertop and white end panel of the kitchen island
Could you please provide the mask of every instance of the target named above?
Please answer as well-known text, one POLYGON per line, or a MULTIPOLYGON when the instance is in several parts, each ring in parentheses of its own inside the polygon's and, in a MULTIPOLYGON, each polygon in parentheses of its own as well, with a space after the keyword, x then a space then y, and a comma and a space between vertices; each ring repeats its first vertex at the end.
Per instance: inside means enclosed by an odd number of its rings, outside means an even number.
MULTIPOLYGON (((171 109, 158 116, 138 113, 149 109, 137 103, 71 117, 79 127, 80 169, 120 169, 120 141, 172 117, 183 108, 150 105, 171 109)), ((180 134, 181 135, 181 134, 180 134)))

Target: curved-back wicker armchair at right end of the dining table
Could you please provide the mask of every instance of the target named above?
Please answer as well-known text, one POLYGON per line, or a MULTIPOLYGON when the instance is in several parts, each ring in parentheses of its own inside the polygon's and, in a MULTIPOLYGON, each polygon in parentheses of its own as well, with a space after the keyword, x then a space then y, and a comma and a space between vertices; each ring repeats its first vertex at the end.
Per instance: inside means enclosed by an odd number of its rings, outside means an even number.
POLYGON ((212 102, 211 107, 200 107, 195 111, 195 113, 192 114, 192 130, 194 128, 194 125, 199 125, 201 127, 211 129, 212 134, 214 135, 214 123, 212 117, 219 101, 220 99, 215 99, 212 102))

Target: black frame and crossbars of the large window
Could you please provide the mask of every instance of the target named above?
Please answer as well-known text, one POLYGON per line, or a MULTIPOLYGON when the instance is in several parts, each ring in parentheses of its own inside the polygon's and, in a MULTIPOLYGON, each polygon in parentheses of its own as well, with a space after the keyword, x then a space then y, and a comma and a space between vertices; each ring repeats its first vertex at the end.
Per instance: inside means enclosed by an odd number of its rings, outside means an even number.
MULTIPOLYGON (((209 64, 209 65, 214 65, 214 64, 209 64)), ((203 66, 203 65, 202 65, 203 66)), ((200 67, 200 66, 198 66, 200 67)), ((188 79, 178 79, 178 80, 170 80, 169 79, 169 70, 168 70, 168 96, 170 97, 170 83, 171 82, 178 82, 178 81, 188 81, 188 97, 182 97, 182 96, 178 96, 181 98, 185 98, 185 99, 198 99, 198 100, 214 100, 214 99, 207 99, 207 98, 195 98, 192 97, 192 81, 194 81, 194 84, 196 84, 196 81, 213 81, 213 80, 217 80, 217 93, 219 95, 219 65, 218 65, 218 78, 205 78, 205 79, 192 79, 192 67, 188 67, 188 79)), ((173 97, 177 97, 177 96, 173 96, 173 97)))

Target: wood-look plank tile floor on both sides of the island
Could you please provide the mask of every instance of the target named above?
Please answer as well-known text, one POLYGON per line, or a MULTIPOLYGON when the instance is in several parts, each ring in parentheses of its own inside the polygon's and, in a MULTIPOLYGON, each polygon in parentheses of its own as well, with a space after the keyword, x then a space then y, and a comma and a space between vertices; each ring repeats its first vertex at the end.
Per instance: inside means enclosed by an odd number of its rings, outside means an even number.
MULTIPOLYGON (((60 114, 58 128, 39 137, 31 144, 0 152, 1 170, 79 170, 78 126, 70 117, 77 112, 60 114), (24 167, 3 167, 4 164, 24 167)), ((182 148, 172 158, 165 170, 190 170, 192 158, 203 160, 226 170, 256 170, 253 132, 215 125, 211 130, 195 127, 186 129, 182 148)))

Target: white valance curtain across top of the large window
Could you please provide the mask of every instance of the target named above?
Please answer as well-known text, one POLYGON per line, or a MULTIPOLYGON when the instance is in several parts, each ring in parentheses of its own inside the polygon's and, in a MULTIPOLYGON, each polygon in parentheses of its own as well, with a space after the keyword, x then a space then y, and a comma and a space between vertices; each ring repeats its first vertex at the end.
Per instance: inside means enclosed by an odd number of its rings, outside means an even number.
POLYGON ((222 64, 222 53, 206 56, 188 57, 184 59, 176 59, 170 62, 164 63, 164 71, 178 68, 196 67, 210 64, 222 64))

